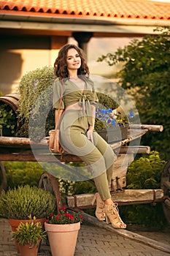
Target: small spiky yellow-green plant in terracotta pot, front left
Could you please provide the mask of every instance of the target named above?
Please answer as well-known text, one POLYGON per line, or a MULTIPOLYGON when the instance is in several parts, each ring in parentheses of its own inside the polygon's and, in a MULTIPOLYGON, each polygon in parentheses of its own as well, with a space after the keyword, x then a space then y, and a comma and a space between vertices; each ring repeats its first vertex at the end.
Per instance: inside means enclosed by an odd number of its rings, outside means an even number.
POLYGON ((36 256, 40 241, 45 241, 46 232, 40 222, 20 222, 20 225, 12 232, 12 239, 18 242, 21 256, 36 256))

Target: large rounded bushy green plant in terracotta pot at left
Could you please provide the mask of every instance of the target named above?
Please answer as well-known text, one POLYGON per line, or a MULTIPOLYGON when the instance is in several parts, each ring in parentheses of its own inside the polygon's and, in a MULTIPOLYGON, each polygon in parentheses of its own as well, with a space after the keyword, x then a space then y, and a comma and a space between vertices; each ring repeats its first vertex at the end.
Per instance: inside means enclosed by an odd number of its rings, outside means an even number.
MULTIPOLYGON (((0 195, 0 216, 9 219, 12 231, 20 222, 29 222, 35 216, 35 222, 45 223, 45 218, 55 211, 55 197, 44 189, 29 185, 4 190, 0 195)), ((18 252, 18 243, 15 241, 18 252)))

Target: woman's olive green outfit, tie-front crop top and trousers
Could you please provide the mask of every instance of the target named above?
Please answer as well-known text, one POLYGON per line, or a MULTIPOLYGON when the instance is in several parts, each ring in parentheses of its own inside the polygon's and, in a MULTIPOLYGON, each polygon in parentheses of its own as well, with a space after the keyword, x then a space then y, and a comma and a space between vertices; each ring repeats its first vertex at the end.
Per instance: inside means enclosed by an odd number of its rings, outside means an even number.
MULTIPOLYGON (((55 109, 59 106, 61 88, 62 83, 56 79, 53 86, 53 108, 55 109)), ((86 136, 88 127, 92 125, 90 105, 98 103, 93 81, 89 78, 85 80, 83 93, 71 80, 65 80, 61 109, 76 102, 79 102, 81 110, 69 109, 63 112, 60 123, 60 143, 66 151, 77 155, 88 165, 101 199, 107 200, 111 197, 109 186, 115 154, 95 130, 93 131, 93 143, 86 136)))

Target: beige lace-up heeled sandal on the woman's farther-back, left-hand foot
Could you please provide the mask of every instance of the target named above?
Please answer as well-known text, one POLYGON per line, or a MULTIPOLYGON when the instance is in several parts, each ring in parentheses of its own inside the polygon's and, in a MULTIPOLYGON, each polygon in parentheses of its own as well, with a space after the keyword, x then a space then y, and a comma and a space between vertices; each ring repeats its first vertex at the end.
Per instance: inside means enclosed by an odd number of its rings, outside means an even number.
POLYGON ((92 206, 96 201, 96 217, 98 220, 103 221, 105 219, 104 213, 104 201, 101 200, 99 193, 96 193, 93 197, 92 206))

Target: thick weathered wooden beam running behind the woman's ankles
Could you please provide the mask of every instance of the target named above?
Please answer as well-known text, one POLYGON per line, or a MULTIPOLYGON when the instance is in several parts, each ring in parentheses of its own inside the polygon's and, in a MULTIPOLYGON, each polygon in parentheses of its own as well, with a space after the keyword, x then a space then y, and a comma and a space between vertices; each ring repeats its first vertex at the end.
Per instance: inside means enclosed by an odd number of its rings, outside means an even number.
MULTIPOLYGON (((163 200, 162 189, 125 189, 123 192, 111 192, 112 200, 121 204, 153 203, 163 200)), ((70 208, 91 208, 94 194, 81 194, 67 197, 70 208)))

